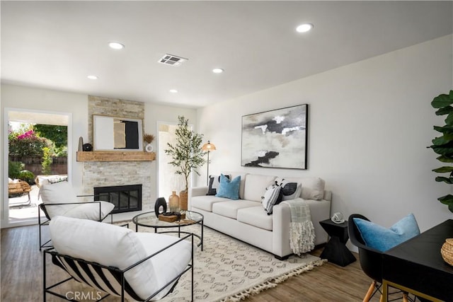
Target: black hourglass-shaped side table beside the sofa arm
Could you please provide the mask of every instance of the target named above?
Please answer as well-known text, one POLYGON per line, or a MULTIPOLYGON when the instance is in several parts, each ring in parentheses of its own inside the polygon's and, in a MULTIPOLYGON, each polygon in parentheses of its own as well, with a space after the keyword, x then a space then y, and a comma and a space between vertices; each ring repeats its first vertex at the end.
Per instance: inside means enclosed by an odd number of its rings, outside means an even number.
POLYGON ((334 223, 331 219, 326 219, 319 221, 319 224, 328 233, 328 236, 331 237, 320 257, 341 267, 354 262, 356 260, 354 255, 346 248, 346 243, 349 239, 348 221, 334 223))

